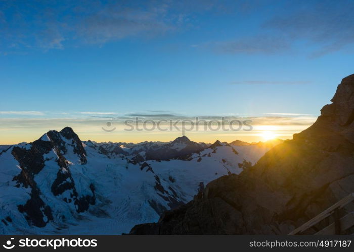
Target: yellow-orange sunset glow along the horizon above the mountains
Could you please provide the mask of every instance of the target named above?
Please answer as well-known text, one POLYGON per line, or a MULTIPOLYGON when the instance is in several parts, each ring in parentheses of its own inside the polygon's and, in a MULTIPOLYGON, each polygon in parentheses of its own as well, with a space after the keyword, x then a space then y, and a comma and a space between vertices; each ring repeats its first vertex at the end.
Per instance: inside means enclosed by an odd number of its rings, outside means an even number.
MULTIPOLYGON (((294 124, 283 122, 280 120, 278 124, 268 124, 275 122, 267 120, 267 118, 255 121, 251 131, 203 131, 192 130, 186 131, 185 135, 194 142, 214 143, 216 140, 221 142, 233 142, 240 140, 243 142, 264 142, 279 138, 282 140, 292 139, 293 134, 299 133, 308 128, 313 120, 306 119, 299 124, 298 118, 295 118, 294 124)), ((101 121, 90 120, 59 120, 59 119, 33 119, 33 120, 14 120, 0 119, 3 128, 0 129, 0 145, 12 145, 21 142, 33 142, 39 139, 43 134, 50 130, 61 131, 65 127, 71 127, 82 141, 95 142, 125 142, 140 143, 145 141, 152 142, 169 142, 181 137, 181 131, 124 131, 123 127, 117 125, 117 129, 113 132, 105 132, 102 130, 101 121), (22 123, 22 124, 21 124, 22 123), (14 126, 15 125, 15 126, 14 126)), ((115 125, 116 127, 116 125, 115 125)))

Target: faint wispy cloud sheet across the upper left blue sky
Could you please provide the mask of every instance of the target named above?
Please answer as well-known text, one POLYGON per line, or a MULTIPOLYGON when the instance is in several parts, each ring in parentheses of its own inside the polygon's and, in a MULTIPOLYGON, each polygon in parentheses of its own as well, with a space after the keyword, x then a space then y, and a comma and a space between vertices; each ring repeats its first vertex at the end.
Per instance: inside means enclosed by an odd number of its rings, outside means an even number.
POLYGON ((128 37, 152 38, 179 30, 193 12, 219 6, 216 1, 2 1, 3 47, 63 49, 104 44, 128 37), (42 13, 43 15, 33 15, 42 13), (5 15, 4 13, 7 13, 5 15))

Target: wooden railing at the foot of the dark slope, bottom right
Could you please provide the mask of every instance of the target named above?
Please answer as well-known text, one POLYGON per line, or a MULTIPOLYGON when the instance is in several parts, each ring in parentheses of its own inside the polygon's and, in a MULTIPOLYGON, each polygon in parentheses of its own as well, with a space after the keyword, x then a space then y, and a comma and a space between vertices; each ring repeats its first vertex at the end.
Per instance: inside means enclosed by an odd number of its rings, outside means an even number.
POLYGON ((326 218, 328 220, 330 216, 333 216, 334 222, 331 224, 328 223, 325 228, 318 231, 316 234, 340 234, 342 231, 345 231, 346 229, 354 226, 354 212, 350 212, 342 218, 340 218, 339 216, 339 210, 353 201, 354 193, 351 193, 347 197, 341 199, 336 204, 314 217, 313 219, 307 221, 300 227, 290 232, 289 235, 301 234, 307 229, 318 224, 320 221, 326 218))

